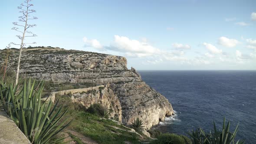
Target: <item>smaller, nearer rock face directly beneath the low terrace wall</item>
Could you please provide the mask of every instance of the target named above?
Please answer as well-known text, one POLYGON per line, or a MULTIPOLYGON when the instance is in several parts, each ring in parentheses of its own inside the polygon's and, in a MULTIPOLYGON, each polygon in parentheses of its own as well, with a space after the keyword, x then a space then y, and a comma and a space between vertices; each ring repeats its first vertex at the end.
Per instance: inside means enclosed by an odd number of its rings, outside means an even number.
POLYGON ((118 100, 117 95, 115 95, 110 88, 104 87, 104 85, 52 92, 49 95, 49 98, 42 98, 42 100, 45 101, 51 99, 54 102, 56 95, 62 96, 64 94, 72 95, 71 100, 75 102, 75 104, 78 103, 85 106, 85 108, 89 108, 92 104, 100 103, 109 109, 109 116, 111 119, 120 122, 122 121, 122 107, 120 101, 118 100))

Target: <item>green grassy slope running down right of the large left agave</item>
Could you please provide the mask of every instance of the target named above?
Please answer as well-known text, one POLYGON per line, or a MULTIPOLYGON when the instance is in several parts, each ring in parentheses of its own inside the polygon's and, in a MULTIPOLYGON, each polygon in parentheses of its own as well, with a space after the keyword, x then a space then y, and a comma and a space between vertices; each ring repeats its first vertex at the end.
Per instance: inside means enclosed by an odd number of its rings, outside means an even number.
MULTIPOLYGON (((117 124, 110 119, 101 118, 96 114, 90 114, 86 111, 86 108, 78 107, 77 104, 72 103, 68 95, 58 95, 57 98, 59 98, 59 103, 63 105, 64 110, 69 108, 65 117, 75 118, 67 129, 77 131, 100 144, 125 144, 125 141, 129 141, 132 144, 141 144, 141 141, 148 141, 141 140, 138 134, 129 132, 128 130, 130 129, 122 124, 117 124)), ((77 138, 79 139, 79 137, 72 137, 73 141, 79 143, 77 138)))

